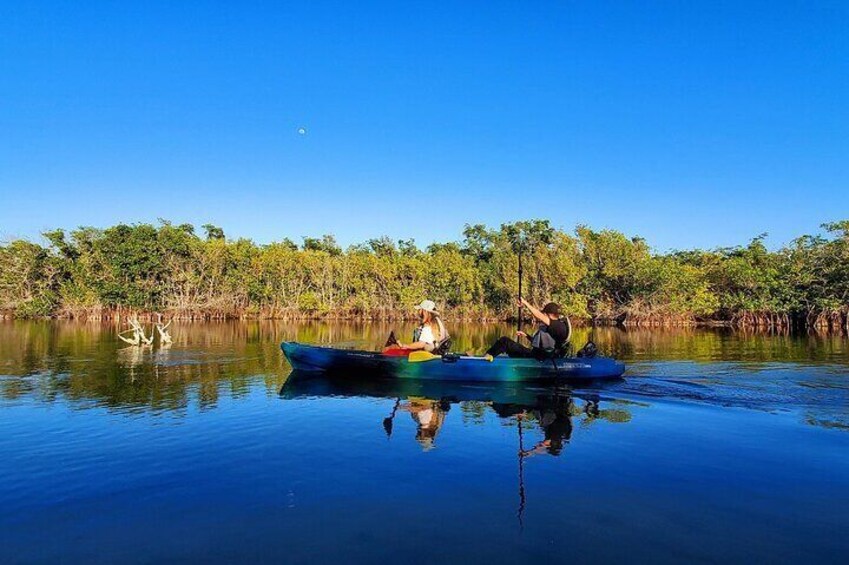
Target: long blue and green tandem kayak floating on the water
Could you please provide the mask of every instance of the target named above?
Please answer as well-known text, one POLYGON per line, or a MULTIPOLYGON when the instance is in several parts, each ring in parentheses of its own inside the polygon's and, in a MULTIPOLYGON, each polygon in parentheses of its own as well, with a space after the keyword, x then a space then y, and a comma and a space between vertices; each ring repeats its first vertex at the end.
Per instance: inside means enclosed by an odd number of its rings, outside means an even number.
POLYGON ((346 374, 397 379, 439 381, 526 382, 542 380, 618 379, 625 364, 609 357, 566 357, 562 359, 511 359, 448 355, 430 361, 411 362, 406 357, 374 351, 357 351, 305 345, 280 344, 292 368, 298 372, 346 374))

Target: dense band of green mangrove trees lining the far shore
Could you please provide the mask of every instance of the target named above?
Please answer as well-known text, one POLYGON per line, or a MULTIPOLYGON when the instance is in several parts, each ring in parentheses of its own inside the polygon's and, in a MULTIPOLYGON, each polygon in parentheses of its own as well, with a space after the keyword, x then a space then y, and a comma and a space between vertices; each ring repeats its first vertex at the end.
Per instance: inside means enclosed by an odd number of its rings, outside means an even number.
POLYGON ((409 313, 423 297, 456 318, 515 310, 517 250, 526 294, 575 318, 628 324, 728 322, 847 327, 849 221, 770 251, 763 236, 711 251, 652 253, 640 238, 547 221, 467 226, 457 242, 418 248, 332 236, 257 245, 207 224, 79 228, 45 245, 0 246, 0 311, 18 317, 167 312, 186 319, 363 317, 409 313))

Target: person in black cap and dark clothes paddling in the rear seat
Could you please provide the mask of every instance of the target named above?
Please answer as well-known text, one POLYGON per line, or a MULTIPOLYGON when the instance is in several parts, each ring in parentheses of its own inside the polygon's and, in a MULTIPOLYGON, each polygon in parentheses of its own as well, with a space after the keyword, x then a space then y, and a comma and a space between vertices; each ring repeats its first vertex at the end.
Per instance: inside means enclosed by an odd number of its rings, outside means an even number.
POLYGON ((572 335, 572 325, 569 323, 569 318, 560 315, 559 305, 549 302, 542 310, 539 310, 524 298, 519 299, 519 305, 527 308, 539 322, 539 328, 533 336, 528 336, 521 331, 516 332, 517 337, 529 340, 531 347, 507 336, 502 336, 487 350, 485 358, 488 361, 492 361, 493 358, 502 353, 519 358, 551 357, 562 350, 563 346, 569 342, 572 335))

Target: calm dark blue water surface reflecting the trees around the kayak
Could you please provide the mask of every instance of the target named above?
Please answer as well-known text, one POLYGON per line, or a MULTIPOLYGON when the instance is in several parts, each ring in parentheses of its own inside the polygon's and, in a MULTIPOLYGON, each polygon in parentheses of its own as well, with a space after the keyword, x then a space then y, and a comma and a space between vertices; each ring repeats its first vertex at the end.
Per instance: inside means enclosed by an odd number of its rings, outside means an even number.
POLYGON ((846 338, 599 330, 627 378, 576 390, 288 379, 281 340, 388 329, 0 323, 0 561, 845 562, 846 338))

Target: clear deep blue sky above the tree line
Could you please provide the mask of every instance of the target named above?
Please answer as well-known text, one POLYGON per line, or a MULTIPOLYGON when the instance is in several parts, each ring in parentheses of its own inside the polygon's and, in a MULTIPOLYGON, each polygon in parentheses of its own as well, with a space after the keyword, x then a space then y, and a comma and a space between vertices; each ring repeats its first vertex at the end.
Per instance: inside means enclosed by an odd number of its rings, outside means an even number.
POLYGON ((849 218, 847 30, 845 0, 4 0, 0 237, 777 246, 849 218))

